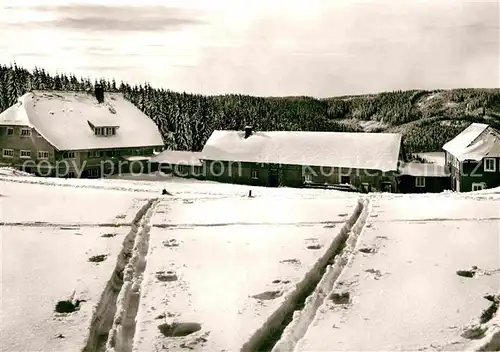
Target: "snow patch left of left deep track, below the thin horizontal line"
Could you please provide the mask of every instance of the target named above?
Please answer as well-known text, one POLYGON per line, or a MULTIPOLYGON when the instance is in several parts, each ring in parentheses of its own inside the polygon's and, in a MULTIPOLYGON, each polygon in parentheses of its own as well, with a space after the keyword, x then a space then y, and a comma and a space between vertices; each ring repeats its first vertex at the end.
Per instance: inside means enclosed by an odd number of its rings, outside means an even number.
POLYGON ((127 228, 2 227, 1 351, 78 351, 116 265, 127 228), (104 234, 114 237, 101 237, 104 234), (99 263, 93 256, 107 255, 99 263), (55 312, 58 301, 85 300, 55 312))

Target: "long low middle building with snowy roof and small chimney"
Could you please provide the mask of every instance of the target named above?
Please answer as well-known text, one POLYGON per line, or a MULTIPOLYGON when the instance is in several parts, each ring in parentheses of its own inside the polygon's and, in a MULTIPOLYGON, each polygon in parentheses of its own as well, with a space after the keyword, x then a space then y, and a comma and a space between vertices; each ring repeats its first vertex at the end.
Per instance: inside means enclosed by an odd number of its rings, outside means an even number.
POLYGON ((207 180, 259 186, 350 185, 397 192, 404 161, 393 133, 214 131, 201 152, 207 180))

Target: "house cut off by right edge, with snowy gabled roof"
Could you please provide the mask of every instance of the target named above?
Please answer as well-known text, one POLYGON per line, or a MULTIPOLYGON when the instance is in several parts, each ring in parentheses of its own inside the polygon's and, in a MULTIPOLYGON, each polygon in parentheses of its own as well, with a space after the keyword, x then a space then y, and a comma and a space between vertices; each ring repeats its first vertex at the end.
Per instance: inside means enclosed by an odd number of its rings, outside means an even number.
POLYGON ((457 192, 500 186, 500 132, 487 124, 472 123, 443 146, 457 192))

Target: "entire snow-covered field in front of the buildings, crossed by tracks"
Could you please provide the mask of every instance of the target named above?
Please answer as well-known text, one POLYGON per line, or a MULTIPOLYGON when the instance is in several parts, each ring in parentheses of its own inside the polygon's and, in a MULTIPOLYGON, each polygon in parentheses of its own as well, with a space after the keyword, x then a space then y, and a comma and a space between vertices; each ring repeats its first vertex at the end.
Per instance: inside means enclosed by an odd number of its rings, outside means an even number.
POLYGON ((131 178, 0 169, 0 351, 500 346, 499 189, 131 178))

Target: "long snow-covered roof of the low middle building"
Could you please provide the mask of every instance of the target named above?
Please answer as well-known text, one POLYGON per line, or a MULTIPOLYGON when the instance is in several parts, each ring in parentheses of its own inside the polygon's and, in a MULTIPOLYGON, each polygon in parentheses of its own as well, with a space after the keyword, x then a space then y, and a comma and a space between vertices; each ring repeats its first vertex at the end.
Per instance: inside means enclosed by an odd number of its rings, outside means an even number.
POLYGON ((288 165, 397 170, 397 133, 214 131, 203 159, 288 165))

